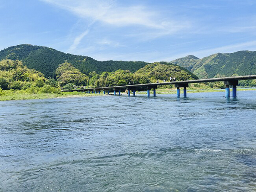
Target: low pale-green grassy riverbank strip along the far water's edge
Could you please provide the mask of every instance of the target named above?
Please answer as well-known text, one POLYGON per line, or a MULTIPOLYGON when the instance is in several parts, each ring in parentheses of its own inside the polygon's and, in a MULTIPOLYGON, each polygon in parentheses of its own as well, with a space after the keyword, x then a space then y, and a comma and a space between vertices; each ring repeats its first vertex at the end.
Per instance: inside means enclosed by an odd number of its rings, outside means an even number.
MULTIPOLYGON (((237 91, 250 91, 256 90, 256 88, 238 88, 237 91)), ((232 91, 232 89, 230 89, 232 91)), ((225 89, 187 89, 187 93, 207 93, 207 92, 225 92, 225 89)), ((183 89, 180 89, 180 93, 183 93, 183 89)), ((113 95, 113 93, 111 93, 113 95)), ((122 95, 127 95, 127 93, 122 92, 122 95)), ((145 95, 146 91, 137 91, 136 95, 145 95)), ((153 91, 150 92, 153 94, 153 91)), ((176 94, 176 89, 157 89, 156 94, 176 94)), ((25 99, 54 99, 54 98, 68 98, 68 97, 88 97, 88 96, 108 96, 103 93, 83 93, 83 92, 62 92, 58 93, 19 93, 17 91, 8 92, 5 94, 4 92, 0 96, 0 101, 9 101, 9 100, 25 100, 25 99)))

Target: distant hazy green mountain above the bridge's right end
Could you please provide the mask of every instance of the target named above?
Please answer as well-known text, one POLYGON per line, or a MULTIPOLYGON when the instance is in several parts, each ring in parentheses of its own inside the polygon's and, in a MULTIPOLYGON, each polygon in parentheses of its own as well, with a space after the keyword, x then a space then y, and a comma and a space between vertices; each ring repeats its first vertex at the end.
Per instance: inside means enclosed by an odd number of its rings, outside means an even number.
POLYGON ((204 58, 193 55, 178 58, 171 63, 184 67, 202 78, 256 74, 256 51, 216 53, 204 58))

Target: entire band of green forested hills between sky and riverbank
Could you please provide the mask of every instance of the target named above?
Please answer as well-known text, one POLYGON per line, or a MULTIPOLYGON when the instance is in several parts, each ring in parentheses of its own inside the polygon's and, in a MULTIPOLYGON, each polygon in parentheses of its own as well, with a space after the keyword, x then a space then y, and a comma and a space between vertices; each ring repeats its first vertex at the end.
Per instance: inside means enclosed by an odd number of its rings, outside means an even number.
MULTIPOLYGON (((189 80, 256 74, 256 52, 214 54, 199 59, 193 55, 173 61, 96 61, 48 47, 17 45, 0 51, 0 89, 60 93, 61 88, 105 87, 162 82, 170 77, 189 80), (179 65, 183 66, 180 67, 179 65), (198 74, 196 76, 195 74, 198 74)), ((255 80, 239 81, 256 86, 255 80)), ((210 84, 220 87, 221 84, 210 84)))

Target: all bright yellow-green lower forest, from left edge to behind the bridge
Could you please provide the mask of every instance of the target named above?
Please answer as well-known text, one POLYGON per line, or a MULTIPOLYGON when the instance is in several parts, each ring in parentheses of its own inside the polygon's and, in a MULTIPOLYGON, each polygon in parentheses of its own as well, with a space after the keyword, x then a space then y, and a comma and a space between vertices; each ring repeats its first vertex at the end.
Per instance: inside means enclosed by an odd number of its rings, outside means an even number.
POLYGON ((168 80, 170 76, 177 80, 198 79, 197 76, 178 65, 163 62, 148 64, 135 73, 130 70, 103 73, 93 71, 88 76, 71 63, 64 62, 58 66, 55 73, 56 79, 46 78, 43 73, 24 66, 22 61, 4 59, 0 61, 0 89, 60 93, 61 88, 145 84, 168 80))

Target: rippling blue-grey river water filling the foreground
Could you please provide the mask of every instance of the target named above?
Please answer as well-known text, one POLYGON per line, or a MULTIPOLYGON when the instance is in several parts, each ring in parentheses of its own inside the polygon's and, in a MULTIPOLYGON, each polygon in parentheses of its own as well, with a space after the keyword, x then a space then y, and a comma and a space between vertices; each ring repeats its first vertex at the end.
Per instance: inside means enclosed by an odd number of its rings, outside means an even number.
POLYGON ((0 192, 256 191, 256 91, 0 102, 0 192))

